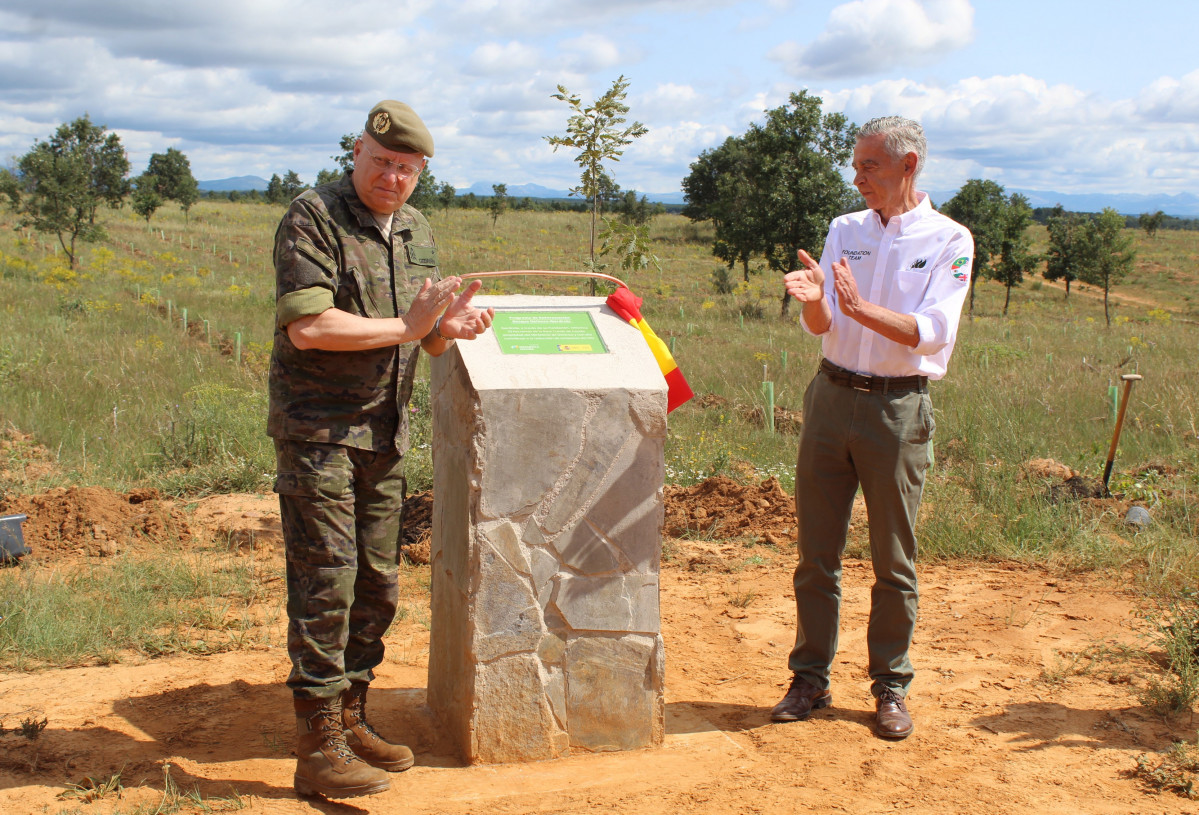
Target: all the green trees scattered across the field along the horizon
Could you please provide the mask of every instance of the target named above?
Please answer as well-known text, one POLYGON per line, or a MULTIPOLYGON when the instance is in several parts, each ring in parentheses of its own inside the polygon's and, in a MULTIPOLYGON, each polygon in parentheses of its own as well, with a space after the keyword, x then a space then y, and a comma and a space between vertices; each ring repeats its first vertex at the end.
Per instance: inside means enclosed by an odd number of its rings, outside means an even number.
MULTIPOLYGON (((649 253, 646 224, 662 212, 635 191, 622 191, 607 169, 623 147, 645 133, 639 122, 625 125, 628 107, 623 103, 627 80, 621 77, 595 102, 582 99, 559 86, 554 95, 566 102, 573 115, 564 137, 546 137, 558 147, 577 151, 580 186, 572 194, 584 200, 511 198, 506 185, 494 185, 493 195, 458 195, 448 182, 439 182, 432 171, 421 174, 410 201, 418 209, 486 207, 493 227, 508 210, 579 210, 591 213, 591 242, 588 259, 597 271, 598 254, 621 247, 626 271, 645 268, 656 259, 649 253), (623 126, 623 127, 622 127, 623 126), (615 213, 603 219, 600 213, 615 213)), ((791 93, 787 104, 766 111, 763 123, 753 123, 737 137, 706 150, 691 165, 682 187, 687 204, 682 209, 692 221, 710 221, 715 227, 712 253, 727 270, 741 268, 743 279, 763 267, 787 273, 796 268, 799 249, 819 253, 829 223, 861 206, 857 192, 845 181, 843 170, 852 158, 857 126, 843 114, 823 113, 823 101, 807 91, 791 93)), ((341 153, 332 156, 338 168, 323 170, 317 183, 327 183, 353 171, 354 133, 342 137, 341 153)), ((128 199, 134 212, 149 223, 165 203, 175 201, 189 217, 200 198, 191 164, 179 150, 153 153, 146 170, 129 179, 129 162, 115 133, 108 133, 85 114, 61 125, 46 141, 36 141, 14 169, 0 170, 0 194, 19 216, 20 227, 58 236, 72 267, 78 243, 103 239, 97 221, 101 207, 120 207, 128 199)), ((263 195, 271 204, 287 204, 307 188, 294 170, 273 175, 263 195)), ((255 200, 258 193, 225 193, 230 199, 255 200)), ((975 274, 970 283, 970 312, 974 285, 980 277, 1004 283, 1007 313, 1011 289, 1032 270, 1044 264, 1042 274, 1070 285, 1081 280, 1108 294, 1132 267, 1132 239, 1125 234, 1131 218, 1107 209, 1096 216, 1066 212, 1061 206, 1034 211, 1020 194, 1006 195, 995 181, 971 179, 941 210, 968 227, 975 236, 975 274), (1042 219, 1049 246, 1043 254, 1030 249, 1029 227, 1042 219)), ((1179 221, 1179 219, 1174 219, 1179 221)), ((1162 212, 1145 213, 1135 225, 1152 236, 1170 224, 1162 212)), ((731 290, 727 273, 716 276, 718 288, 731 290)), ((787 315, 790 298, 781 300, 787 315)), ((1110 321, 1110 315, 1108 314, 1110 321)))

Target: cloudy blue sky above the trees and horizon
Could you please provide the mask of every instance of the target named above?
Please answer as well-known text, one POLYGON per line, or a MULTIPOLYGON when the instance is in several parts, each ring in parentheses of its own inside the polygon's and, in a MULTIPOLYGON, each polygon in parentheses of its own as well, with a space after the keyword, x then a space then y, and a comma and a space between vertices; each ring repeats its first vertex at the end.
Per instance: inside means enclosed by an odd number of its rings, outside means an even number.
POLYGON ((88 113, 134 173, 177 147, 201 180, 312 181, 398 98, 439 180, 566 188, 552 93, 623 74, 649 127, 626 189, 677 191, 807 89, 857 123, 921 120, 928 189, 1199 194, 1197 31, 1193 0, 0 0, 0 161, 88 113))

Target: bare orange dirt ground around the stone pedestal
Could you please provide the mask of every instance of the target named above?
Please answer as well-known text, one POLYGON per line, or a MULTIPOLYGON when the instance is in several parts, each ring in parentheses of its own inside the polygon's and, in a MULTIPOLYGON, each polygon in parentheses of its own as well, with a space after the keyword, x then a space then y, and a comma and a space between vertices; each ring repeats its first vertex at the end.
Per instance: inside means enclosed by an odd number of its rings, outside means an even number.
MULTIPOLYGON (((848 561, 833 706, 805 723, 772 724, 794 639, 790 497, 775 482, 717 481, 670 488, 667 505, 667 738, 659 749, 464 766, 426 706, 427 600, 417 599, 426 612, 416 609, 392 627, 373 686, 376 725, 417 754, 416 767, 394 775, 390 791, 343 802, 294 793, 288 665, 276 618, 269 641, 253 650, 0 672, 7 731, 0 736, 0 811, 153 813, 164 773, 212 810, 223 810, 235 791, 247 813, 1197 810, 1134 775, 1139 755, 1193 739, 1195 731, 1193 722, 1162 720, 1138 702, 1146 663, 1120 654, 1144 642, 1133 627, 1135 598, 1120 585, 1002 563, 922 566, 909 698, 916 731, 891 743, 870 732, 870 566, 848 561), (718 533, 705 536, 716 521, 718 533), (36 739, 14 732, 30 719, 47 722, 36 739), (116 773, 121 796, 61 797, 71 784, 116 773)), ((30 515, 34 556, 61 568, 163 545, 156 530, 170 529, 180 541, 173 545, 227 541, 231 553, 283 570, 269 495, 177 506, 152 494, 62 490, 0 506, 11 512, 30 515)), ((414 586, 422 569, 410 567, 414 586)))

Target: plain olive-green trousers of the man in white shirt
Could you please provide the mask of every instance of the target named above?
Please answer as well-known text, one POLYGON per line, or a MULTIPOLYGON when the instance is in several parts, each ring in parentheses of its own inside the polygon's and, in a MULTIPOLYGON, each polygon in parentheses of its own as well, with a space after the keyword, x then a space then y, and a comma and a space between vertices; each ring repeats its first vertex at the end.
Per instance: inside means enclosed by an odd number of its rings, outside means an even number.
POLYGON ((905 695, 916 626, 916 535, 933 404, 927 392, 864 392, 817 374, 803 396, 795 470, 796 638, 788 666, 829 687, 840 614, 840 559, 858 485, 870 527, 874 587, 867 629, 870 692, 905 695))

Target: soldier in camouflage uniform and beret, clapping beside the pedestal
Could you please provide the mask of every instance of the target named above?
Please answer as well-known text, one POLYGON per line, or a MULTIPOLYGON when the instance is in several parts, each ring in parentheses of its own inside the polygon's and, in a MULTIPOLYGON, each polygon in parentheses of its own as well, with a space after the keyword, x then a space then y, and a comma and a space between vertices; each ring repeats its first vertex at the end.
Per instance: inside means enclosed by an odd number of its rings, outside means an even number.
POLYGON ((309 189, 275 236, 275 439, 288 569, 288 653, 301 795, 381 792, 412 753, 366 720, 366 690, 396 614, 408 400, 416 357, 474 339, 493 312, 475 280, 442 278, 424 217, 406 200, 433 137, 384 101, 354 169, 309 189))

